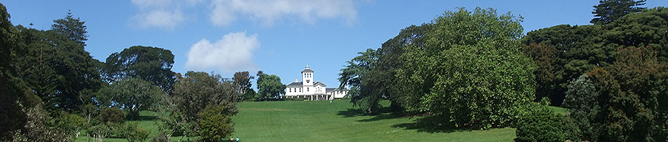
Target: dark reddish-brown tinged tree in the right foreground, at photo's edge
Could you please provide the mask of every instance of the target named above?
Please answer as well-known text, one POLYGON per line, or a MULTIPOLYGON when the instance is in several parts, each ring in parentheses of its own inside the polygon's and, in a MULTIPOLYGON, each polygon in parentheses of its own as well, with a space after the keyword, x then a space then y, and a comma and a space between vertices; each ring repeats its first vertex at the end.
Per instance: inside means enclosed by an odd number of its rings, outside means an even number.
POLYGON ((565 105, 572 107, 588 141, 663 141, 667 65, 648 47, 618 49, 617 61, 586 72, 569 87, 565 105), (589 83, 591 82, 591 83, 589 83), (593 89, 591 89, 593 86, 593 89))

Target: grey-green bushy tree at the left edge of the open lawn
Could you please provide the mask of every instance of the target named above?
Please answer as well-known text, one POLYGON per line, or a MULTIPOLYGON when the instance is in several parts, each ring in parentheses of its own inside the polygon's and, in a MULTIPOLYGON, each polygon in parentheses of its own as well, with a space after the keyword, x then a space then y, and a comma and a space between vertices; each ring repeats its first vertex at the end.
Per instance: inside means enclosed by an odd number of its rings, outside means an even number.
POLYGON ((176 132, 196 135, 200 128, 200 112, 209 105, 217 105, 224 107, 227 115, 235 115, 238 112, 236 97, 232 82, 222 79, 220 75, 187 72, 185 78, 174 85, 172 110, 167 123, 176 132))

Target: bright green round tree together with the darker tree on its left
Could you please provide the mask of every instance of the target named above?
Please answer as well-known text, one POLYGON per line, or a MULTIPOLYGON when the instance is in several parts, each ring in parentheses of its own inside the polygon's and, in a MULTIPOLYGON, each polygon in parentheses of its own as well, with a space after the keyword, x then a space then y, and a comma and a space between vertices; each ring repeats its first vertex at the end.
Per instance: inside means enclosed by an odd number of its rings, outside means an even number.
POLYGON ((506 127, 533 101, 534 64, 520 51, 520 18, 492 8, 446 12, 367 49, 342 69, 352 103, 369 114, 428 113, 452 127, 506 127), (355 91, 352 91, 355 92, 355 91))

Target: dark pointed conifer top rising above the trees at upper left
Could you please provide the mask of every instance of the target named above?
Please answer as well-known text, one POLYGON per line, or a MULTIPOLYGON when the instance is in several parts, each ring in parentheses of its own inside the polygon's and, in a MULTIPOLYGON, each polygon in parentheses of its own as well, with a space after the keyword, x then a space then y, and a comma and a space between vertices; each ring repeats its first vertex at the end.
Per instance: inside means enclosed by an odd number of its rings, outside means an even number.
POLYGON ((86 25, 79 18, 73 18, 72 12, 68 11, 68 15, 63 19, 53 20, 55 22, 51 25, 51 30, 57 32, 58 34, 63 34, 65 37, 72 41, 76 41, 79 44, 86 45, 89 35, 86 31, 86 25))

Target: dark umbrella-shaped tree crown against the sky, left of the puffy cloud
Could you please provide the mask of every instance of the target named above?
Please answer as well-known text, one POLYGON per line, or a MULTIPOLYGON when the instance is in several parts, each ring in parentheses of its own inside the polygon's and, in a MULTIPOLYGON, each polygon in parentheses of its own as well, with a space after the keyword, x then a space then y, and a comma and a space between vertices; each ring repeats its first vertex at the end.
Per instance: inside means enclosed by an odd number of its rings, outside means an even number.
POLYGON ((131 46, 120 53, 112 53, 103 68, 108 82, 117 82, 124 78, 143 79, 162 91, 172 91, 176 79, 172 72, 174 54, 167 49, 150 46, 131 46))

